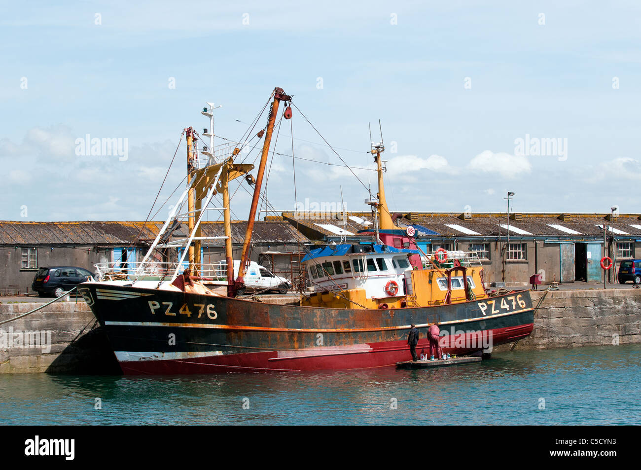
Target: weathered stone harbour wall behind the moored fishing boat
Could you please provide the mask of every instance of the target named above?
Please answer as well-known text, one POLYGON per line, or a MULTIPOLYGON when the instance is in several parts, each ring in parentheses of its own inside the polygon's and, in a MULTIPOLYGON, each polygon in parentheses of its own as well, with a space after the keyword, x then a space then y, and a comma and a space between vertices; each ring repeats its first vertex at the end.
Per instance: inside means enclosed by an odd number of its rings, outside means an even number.
MULTIPOLYGON (((544 291, 533 291, 533 305, 544 291)), ((275 301, 276 298, 263 298, 275 301)), ((287 301, 290 299, 283 299, 287 301)), ((29 312, 39 303, 0 303, 0 321, 29 312)), ((0 373, 119 374, 120 367, 96 319, 82 299, 54 302, 42 310, 0 325, 7 332, 49 332, 46 348, 3 344, 0 373), (10 330, 11 328, 11 330, 10 330), (7 347, 12 346, 12 347, 7 347), (48 350, 47 350, 48 349, 48 350)), ((535 312, 532 334, 495 352, 601 346, 641 342, 641 289, 552 290, 535 312)))

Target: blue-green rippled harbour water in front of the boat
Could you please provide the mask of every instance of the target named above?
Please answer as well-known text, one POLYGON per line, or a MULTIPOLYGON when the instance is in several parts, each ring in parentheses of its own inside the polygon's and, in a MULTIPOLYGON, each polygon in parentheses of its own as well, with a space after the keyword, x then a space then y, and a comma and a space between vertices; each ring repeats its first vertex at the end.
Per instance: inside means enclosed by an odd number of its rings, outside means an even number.
POLYGON ((415 371, 4 374, 0 424, 641 424, 640 396, 633 344, 415 371))

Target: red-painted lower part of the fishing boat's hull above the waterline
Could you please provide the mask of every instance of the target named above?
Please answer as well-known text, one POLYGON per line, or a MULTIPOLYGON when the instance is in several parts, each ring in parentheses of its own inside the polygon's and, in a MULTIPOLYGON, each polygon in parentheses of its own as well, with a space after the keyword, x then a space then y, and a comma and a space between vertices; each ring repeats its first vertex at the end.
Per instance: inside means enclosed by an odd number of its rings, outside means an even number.
MULTIPOLYGON (((522 324, 509 328, 490 330, 492 346, 514 342, 527 337, 534 325, 522 324)), ((484 332, 487 333, 488 332, 484 332)), ((446 353, 469 355, 480 351, 478 338, 469 335, 445 336, 441 338, 446 353), (461 344, 462 343, 462 344, 461 344)), ((429 354, 427 339, 419 340, 417 353, 429 354)), ((283 372, 319 371, 329 369, 370 369, 389 367, 397 362, 410 360, 410 349, 404 341, 388 341, 359 344, 343 348, 314 348, 301 351, 262 351, 230 355, 174 360, 121 361, 125 374, 210 374, 224 372, 283 372)))

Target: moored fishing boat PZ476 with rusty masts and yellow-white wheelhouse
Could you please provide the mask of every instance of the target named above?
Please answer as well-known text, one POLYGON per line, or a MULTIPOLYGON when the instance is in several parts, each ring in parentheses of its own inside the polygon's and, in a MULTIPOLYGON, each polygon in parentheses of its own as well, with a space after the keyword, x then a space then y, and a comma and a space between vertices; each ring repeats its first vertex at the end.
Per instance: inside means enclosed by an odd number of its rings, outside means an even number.
MULTIPOLYGON (((208 103, 203 115, 210 128, 202 136, 185 129, 187 187, 147 254, 137 263, 97 264, 99 278, 79 285, 125 374, 394 367, 410 358, 411 324, 419 329, 421 355, 429 351, 426 333, 433 324, 444 352, 453 355, 488 351, 531 333, 528 290, 488 292, 473 257, 423 253, 415 227, 395 224, 385 200, 382 141, 370 148, 378 174, 378 193, 367 201, 374 223, 358 233, 371 241, 306 248, 304 285, 288 303, 241 296, 279 105, 285 106, 280 120, 291 119, 291 106, 296 108, 281 88, 270 101, 267 124, 253 136, 263 140, 255 177, 254 165, 241 158, 251 140, 214 145, 214 106, 208 103), (200 153, 199 137, 210 139, 200 153), (229 182, 237 178, 253 189, 240 264, 232 256, 229 212, 229 182), (217 238, 224 239, 226 259, 205 265, 201 243, 208 237, 200 224, 214 196, 222 196, 213 210, 222 212, 225 235, 217 238), (182 239, 174 235, 181 220, 188 226, 182 239), (167 252, 177 247, 179 259, 169 260, 167 252)), ((292 284, 301 286, 301 279, 292 284)))

